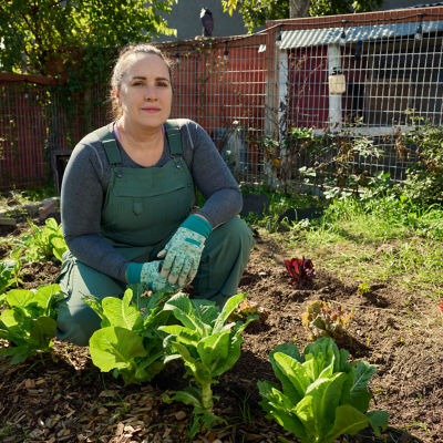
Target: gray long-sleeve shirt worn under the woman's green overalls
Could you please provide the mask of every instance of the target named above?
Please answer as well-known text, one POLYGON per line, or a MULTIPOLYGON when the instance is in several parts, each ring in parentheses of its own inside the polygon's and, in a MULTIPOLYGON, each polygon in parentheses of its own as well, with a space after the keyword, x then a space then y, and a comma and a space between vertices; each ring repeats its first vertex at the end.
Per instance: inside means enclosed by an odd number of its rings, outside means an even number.
MULTIPOLYGON (((241 210, 241 192, 209 135, 190 120, 178 120, 183 158, 205 204, 197 214, 215 228, 241 210)), ((124 167, 143 167, 117 143, 124 167)), ((172 158, 165 135, 165 147, 156 165, 172 158)), ((111 177, 111 166, 102 143, 94 133, 86 135, 73 150, 63 175, 61 216, 63 234, 71 253, 82 262, 124 281, 127 259, 100 234, 101 213, 111 177)))

